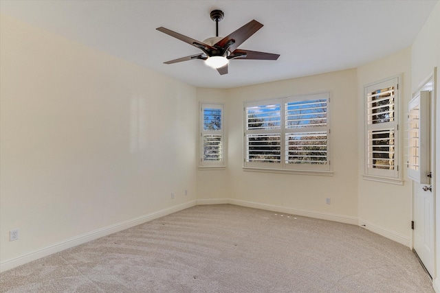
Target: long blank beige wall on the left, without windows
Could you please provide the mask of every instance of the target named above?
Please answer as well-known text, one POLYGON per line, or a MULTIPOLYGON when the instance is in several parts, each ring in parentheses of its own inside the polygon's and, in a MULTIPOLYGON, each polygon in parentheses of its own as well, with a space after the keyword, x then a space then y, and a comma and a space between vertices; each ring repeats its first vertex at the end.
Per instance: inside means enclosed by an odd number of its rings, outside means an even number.
POLYGON ((195 202, 194 87, 8 16, 0 27, 0 263, 195 202))

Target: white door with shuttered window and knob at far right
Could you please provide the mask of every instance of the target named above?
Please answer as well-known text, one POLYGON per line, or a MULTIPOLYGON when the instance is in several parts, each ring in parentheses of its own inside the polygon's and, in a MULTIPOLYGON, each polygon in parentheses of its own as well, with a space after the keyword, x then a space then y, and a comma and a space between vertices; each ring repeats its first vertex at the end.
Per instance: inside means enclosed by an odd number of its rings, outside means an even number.
MULTIPOLYGON (((425 118, 426 126, 425 132, 419 133, 418 137, 421 137, 421 142, 419 140, 419 145, 417 147, 421 147, 424 144, 423 148, 419 149, 419 154, 417 156, 417 162, 423 165, 423 160, 425 161, 424 167, 419 168, 419 180, 413 180, 413 239, 414 239, 414 250, 415 253, 419 256, 420 260, 423 262, 426 270, 429 272, 431 277, 435 277, 434 275, 434 189, 432 185, 434 181, 431 178, 431 170, 434 167, 434 160, 432 154, 434 154, 434 123, 435 116, 432 115, 433 107, 433 80, 432 77, 428 82, 426 82, 421 89, 415 93, 415 96, 425 96, 427 97, 427 105, 426 110, 421 111, 420 116, 423 121, 425 118), (426 115, 428 117, 423 117, 426 115), (423 138, 423 136, 425 136, 423 138), (423 143, 424 139, 424 143, 423 143)), ((410 128, 410 127, 409 127, 410 128)), ((423 122, 421 125, 419 124, 419 129, 423 128, 423 122)), ((408 129, 409 130, 409 129, 408 129)), ((411 134, 409 135, 411 137, 411 134)), ((411 154, 411 143, 409 142, 409 150, 408 152, 411 154)), ((409 155, 410 155, 409 154, 409 155)), ((419 165, 420 167, 420 165, 419 165)), ((408 166, 408 176, 410 173, 414 171, 411 169, 411 166, 408 166)), ((414 179, 414 178, 412 178, 414 179)))

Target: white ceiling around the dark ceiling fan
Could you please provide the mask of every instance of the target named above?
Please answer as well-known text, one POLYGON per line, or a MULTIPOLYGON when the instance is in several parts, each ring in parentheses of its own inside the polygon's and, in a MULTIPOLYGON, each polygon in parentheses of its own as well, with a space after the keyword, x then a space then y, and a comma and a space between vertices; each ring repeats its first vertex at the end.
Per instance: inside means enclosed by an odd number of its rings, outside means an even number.
POLYGON ((409 47, 432 1, 0 0, 0 12, 199 87, 232 88, 358 67, 409 47), (197 48, 155 30, 196 40, 215 36, 210 11, 223 10, 220 36, 252 19, 263 28, 239 49, 281 54, 276 61, 230 60, 219 75, 201 60, 163 62, 197 48))

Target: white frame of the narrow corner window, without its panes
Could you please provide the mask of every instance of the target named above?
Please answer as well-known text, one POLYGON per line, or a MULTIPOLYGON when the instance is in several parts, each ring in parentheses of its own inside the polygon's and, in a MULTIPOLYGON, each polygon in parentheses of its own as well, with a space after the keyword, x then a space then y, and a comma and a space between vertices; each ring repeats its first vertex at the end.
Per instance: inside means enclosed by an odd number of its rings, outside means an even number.
POLYGON ((199 169, 225 169, 225 120, 224 120, 224 104, 221 103, 205 103, 199 104, 200 108, 200 136, 199 136, 199 169), (205 130, 204 129, 204 112, 205 109, 219 109, 221 110, 221 129, 220 130, 205 130), (220 137, 220 159, 217 161, 210 161, 206 159, 204 141, 205 137, 210 135, 220 137))

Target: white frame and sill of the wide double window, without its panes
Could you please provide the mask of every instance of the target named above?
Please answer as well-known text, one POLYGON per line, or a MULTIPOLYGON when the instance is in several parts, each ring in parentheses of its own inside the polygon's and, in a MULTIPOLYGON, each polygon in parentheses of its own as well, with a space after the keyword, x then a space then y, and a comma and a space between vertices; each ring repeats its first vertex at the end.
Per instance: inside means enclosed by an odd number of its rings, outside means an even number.
POLYGON ((314 93, 307 95, 294 95, 290 97, 281 97, 276 99, 265 99, 260 101, 248 101, 244 103, 243 108, 243 169, 245 171, 254 172, 276 172, 276 173, 292 173, 292 174, 312 174, 332 176, 331 172, 331 152, 330 152, 330 93, 314 93), (301 127, 301 128, 288 128, 286 126, 286 104, 291 102, 307 102, 316 99, 325 99, 327 124, 320 127, 301 127), (272 129, 256 129, 248 130, 248 110, 247 108, 255 106, 268 106, 279 105, 280 106, 280 128, 272 129), (327 135, 327 162, 323 164, 315 163, 288 163, 286 158, 288 157, 287 151, 287 135, 288 134, 301 134, 304 132, 325 132, 327 135), (279 163, 264 163, 264 162, 252 162, 249 161, 248 156, 248 136, 252 134, 280 134, 280 162, 279 163))

